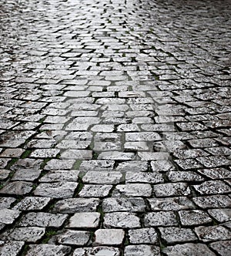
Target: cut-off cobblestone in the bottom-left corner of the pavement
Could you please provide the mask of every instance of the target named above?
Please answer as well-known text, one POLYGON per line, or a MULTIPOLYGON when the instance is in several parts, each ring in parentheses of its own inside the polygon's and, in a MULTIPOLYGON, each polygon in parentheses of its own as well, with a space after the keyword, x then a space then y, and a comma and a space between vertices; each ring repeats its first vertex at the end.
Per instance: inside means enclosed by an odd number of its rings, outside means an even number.
POLYGON ((22 251, 24 244, 23 241, 0 241, 0 254, 2 256, 17 256, 22 251))

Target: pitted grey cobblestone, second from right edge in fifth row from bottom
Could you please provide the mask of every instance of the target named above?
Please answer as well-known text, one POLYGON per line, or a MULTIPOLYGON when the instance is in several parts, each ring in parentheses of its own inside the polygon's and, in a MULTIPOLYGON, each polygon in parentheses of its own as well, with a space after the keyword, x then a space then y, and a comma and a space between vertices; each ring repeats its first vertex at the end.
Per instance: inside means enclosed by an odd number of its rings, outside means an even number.
POLYGON ((156 197, 187 196, 191 191, 186 183, 158 184, 153 186, 156 197))

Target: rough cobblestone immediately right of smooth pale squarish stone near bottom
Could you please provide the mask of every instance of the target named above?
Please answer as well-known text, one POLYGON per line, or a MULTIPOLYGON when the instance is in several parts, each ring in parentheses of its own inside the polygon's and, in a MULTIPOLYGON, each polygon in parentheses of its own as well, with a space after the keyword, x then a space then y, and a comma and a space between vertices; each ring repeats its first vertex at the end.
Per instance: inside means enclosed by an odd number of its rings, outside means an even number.
POLYGON ((158 236, 153 227, 129 230, 131 244, 158 244, 158 236))

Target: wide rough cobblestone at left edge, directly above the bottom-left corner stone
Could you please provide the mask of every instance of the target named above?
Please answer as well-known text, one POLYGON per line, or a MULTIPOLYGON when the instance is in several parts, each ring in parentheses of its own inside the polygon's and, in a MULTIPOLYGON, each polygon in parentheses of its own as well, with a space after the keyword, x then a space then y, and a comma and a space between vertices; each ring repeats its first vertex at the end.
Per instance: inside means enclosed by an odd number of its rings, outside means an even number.
POLYGON ((16 227, 5 231, 0 239, 37 243, 45 234, 45 227, 16 227))

